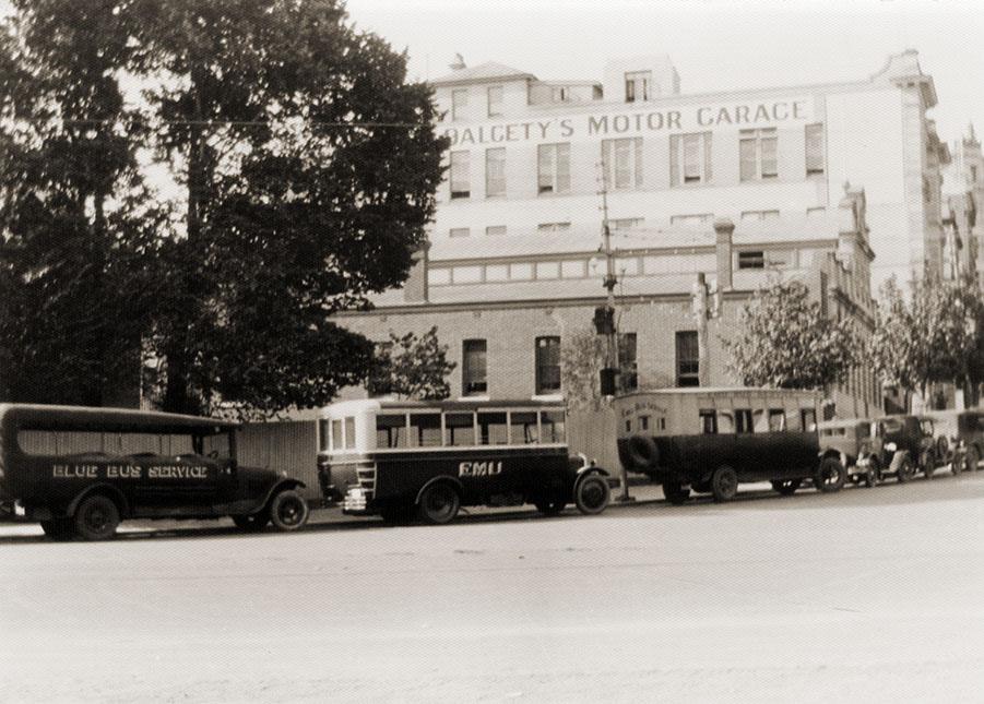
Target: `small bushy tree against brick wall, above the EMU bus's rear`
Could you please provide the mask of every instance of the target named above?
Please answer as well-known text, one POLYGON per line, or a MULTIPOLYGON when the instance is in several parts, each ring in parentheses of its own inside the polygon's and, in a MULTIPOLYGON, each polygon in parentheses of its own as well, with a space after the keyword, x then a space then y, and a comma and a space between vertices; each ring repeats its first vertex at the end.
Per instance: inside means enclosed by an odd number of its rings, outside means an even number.
POLYGON ((390 333, 390 341, 378 346, 367 386, 372 395, 438 401, 451 394, 448 375, 457 366, 448 361, 448 346, 438 342, 437 327, 420 337, 390 333))

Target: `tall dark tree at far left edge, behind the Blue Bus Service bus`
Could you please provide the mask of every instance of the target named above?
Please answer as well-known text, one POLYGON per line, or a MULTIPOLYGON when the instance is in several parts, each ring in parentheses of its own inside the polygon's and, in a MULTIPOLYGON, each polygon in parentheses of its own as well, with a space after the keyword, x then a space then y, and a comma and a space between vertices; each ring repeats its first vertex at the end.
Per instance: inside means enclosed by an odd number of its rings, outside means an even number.
POLYGON ((129 372, 159 213, 142 202, 115 3, 14 0, 0 37, 0 394, 100 404, 129 372))

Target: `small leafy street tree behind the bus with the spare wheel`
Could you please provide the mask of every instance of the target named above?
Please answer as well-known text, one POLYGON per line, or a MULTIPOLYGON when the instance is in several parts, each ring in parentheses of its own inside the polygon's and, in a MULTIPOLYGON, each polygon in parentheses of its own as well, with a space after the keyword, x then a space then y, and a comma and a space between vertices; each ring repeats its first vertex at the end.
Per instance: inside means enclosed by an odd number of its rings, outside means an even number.
POLYGON ((833 321, 802 282, 761 290, 742 311, 740 330, 722 338, 728 368, 750 386, 828 389, 864 361, 849 320, 833 321))

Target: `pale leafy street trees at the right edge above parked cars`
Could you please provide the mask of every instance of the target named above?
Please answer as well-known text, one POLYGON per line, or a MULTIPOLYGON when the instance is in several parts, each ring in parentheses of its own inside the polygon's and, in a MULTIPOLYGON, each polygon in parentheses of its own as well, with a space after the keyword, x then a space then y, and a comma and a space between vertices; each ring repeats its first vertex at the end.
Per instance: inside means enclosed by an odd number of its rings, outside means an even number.
POLYGON ((881 287, 872 357, 880 375, 928 398, 934 383, 968 390, 984 372, 984 301, 972 278, 913 282, 909 298, 894 279, 881 287))

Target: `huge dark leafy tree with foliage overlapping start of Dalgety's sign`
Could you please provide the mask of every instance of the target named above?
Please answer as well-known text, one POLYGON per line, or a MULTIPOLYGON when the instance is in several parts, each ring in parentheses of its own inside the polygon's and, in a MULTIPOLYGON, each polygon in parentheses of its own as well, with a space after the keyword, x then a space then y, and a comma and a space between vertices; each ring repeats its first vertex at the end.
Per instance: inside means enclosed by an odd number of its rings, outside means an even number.
MULTIPOLYGON (((138 332, 156 362, 149 382, 159 404, 271 413, 324 404, 365 378, 371 345, 330 317, 405 279, 442 171, 430 88, 406 82, 405 55, 357 31, 340 0, 17 0, 15 9, 10 35, 36 48, 13 52, 9 72, 37 67, 81 120, 32 122, 54 123, 61 139, 22 159, 34 182, 59 182, 71 200, 79 187, 63 177, 68 160, 88 179, 93 195, 75 202, 86 203, 90 225, 109 220, 98 196, 111 194, 133 204, 128 214, 143 210, 122 231, 152 231, 138 251, 153 256, 123 264, 128 275, 144 270, 144 285, 125 277, 114 288, 140 302, 156 282, 153 309, 112 318, 149 326, 138 332), (121 80, 141 86, 139 100, 128 103, 121 80), (88 93, 78 88, 85 81, 88 93), (179 195, 154 199, 127 181, 139 176, 137 155, 168 172, 179 195), (158 215, 146 217, 152 208, 158 215)), ((51 217, 49 203, 36 210, 51 217)), ((69 271, 98 261, 70 234, 36 227, 39 240, 78 254, 59 262, 69 271)), ((32 266, 40 258, 24 256, 32 266)), ((42 297, 78 301, 71 290, 59 283, 42 297)))

